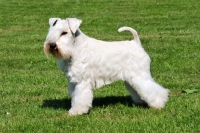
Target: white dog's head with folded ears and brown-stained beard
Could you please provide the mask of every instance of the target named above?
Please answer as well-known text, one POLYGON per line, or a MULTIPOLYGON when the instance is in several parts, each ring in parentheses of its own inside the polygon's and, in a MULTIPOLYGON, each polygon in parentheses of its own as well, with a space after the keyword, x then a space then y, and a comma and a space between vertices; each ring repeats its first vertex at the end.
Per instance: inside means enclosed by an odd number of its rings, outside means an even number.
POLYGON ((73 50, 75 33, 78 30, 82 20, 77 18, 49 19, 49 32, 44 43, 44 52, 46 55, 52 54, 55 58, 68 59, 73 50))

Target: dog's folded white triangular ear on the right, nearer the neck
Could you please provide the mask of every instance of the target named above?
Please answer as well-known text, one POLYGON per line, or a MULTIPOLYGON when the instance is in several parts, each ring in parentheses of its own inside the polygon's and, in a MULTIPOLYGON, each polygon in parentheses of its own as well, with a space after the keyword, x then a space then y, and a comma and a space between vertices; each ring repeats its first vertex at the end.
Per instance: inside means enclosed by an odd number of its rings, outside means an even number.
POLYGON ((67 21, 69 23, 69 28, 72 31, 72 33, 75 33, 82 23, 82 20, 77 18, 67 18, 67 21))

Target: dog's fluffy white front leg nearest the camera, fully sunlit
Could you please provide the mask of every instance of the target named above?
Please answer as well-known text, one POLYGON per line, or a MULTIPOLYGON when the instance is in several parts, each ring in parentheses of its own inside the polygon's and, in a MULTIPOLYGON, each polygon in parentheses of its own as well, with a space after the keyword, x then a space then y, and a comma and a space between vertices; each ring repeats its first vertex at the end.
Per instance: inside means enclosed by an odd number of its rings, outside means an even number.
POLYGON ((88 113, 89 109, 92 107, 92 99, 93 93, 90 83, 83 81, 76 84, 72 93, 72 107, 69 110, 69 115, 88 113))

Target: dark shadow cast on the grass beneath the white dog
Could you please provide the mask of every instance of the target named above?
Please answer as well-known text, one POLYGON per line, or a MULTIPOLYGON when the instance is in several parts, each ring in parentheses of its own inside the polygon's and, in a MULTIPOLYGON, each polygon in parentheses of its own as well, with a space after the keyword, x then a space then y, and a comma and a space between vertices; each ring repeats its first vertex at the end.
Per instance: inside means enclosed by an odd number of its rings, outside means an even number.
MULTIPOLYGON (((129 107, 141 107, 141 108, 148 108, 146 104, 137 105, 131 100, 130 96, 107 96, 107 97, 97 97, 93 99, 93 108, 95 107, 105 107, 109 105, 115 104, 123 104, 129 107)), ((54 109, 70 109, 71 107, 71 99, 49 99, 44 100, 42 108, 54 108, 54 109)))

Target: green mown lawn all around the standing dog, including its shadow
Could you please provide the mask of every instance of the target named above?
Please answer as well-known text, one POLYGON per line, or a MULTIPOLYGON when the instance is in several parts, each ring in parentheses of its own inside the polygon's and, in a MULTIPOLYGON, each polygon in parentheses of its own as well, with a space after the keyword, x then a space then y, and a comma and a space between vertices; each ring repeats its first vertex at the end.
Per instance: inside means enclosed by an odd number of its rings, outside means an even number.
POLYGON ((0 132, 200 132, 199 0, 0 0, 0 132), (121 81, 94 91, 88 115, 69 117, 67 80, 43 42, 51 17, 78 17, 101 40, 130 40, 135 28, 157 82, 170 89, 162 110, 132 103, 121 81), (187 92, 187 91, 185 91, 187 92), (193 91, 191 91, 193 92, 193 91))

